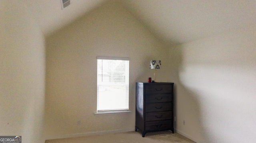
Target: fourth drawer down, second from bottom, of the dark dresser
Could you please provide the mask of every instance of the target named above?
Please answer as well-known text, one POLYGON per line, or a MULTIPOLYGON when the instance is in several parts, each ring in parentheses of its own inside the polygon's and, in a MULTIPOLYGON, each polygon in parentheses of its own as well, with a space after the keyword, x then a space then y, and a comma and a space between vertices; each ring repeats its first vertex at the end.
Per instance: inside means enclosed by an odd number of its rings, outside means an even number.
POLYGON ((172 119, 171 111, 145 113, 145 121, 160 121, 172 119))

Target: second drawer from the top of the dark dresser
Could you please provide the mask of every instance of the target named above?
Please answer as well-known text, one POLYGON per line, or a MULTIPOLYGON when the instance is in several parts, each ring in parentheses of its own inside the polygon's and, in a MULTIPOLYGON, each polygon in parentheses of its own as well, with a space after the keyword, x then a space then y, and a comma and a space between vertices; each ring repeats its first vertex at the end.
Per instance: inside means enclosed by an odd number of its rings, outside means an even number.
POLYGON ((172 94, 146 94, 145 103, 172 102, 172 94))

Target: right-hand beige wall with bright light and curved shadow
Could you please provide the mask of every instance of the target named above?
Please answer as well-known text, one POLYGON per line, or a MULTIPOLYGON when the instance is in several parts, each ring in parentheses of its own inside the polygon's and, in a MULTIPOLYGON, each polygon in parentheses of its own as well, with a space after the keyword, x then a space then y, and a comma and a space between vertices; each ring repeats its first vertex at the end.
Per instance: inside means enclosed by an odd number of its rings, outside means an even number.
POLYGON ((198 143, 255 142, 256 27, 185 43, 170 55, 177 131, 198 143))

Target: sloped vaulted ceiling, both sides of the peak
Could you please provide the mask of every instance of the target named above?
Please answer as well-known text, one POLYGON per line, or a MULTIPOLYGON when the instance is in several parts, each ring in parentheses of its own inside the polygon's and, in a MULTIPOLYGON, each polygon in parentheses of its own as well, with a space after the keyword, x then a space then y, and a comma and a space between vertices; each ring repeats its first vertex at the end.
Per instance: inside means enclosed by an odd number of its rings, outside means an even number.
MULTIPOLYGON (((71 23, 109 0, 24 0, 43 33, 71 23)), ((112 0, 113 1, 113 0, 112 0)), ((114 0, 170 45, 256 24, 255 0, 114 0)))

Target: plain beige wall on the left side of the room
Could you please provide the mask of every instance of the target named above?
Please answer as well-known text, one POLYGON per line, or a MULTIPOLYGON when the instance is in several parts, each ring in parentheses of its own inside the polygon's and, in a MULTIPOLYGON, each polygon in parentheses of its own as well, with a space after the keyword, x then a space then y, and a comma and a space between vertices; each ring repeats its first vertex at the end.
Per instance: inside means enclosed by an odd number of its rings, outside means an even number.
POLYGON ((22 2, 0 6, 0 135, 44 143, 44 36, 22 2))

